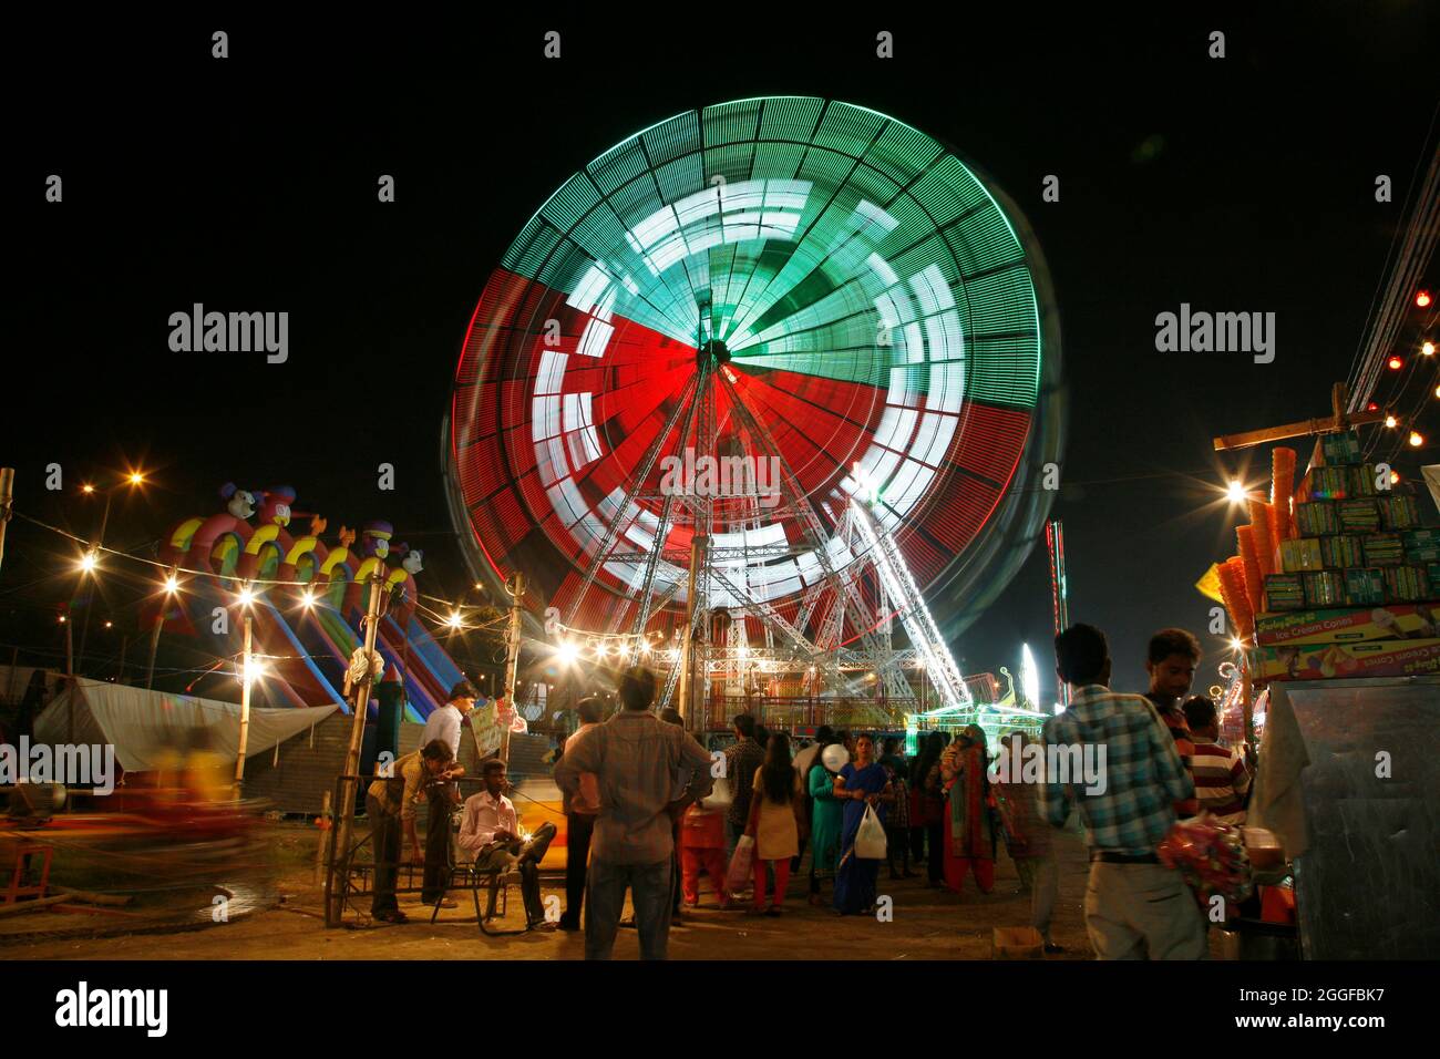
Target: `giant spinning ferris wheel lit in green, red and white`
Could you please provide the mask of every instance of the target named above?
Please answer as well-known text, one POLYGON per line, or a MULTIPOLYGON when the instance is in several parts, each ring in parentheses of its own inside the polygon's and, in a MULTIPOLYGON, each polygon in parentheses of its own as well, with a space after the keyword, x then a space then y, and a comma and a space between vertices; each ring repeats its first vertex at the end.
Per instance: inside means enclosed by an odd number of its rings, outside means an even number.
POLYGON ((765 97, 651 125, 481 294, 446 452, 472 566, 524 571, 533 611, 616 653, 690 637, 719 679, 848 663, 896 696, 912 658, 966 699, 942 625, 1050 506, 1048 291, 1004 193, 884 114, 765 97))

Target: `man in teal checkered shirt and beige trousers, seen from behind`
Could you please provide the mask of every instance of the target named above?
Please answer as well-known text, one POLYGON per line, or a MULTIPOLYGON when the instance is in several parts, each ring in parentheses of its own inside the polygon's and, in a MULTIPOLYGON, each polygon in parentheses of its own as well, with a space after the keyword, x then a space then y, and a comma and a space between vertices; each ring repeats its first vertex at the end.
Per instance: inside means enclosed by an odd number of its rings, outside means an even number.
POLYGON ((1045 722, 1045 746, 1080 748, 1080 759, 1104 765, 1094 787, 1047 774, 1040 791, 1051 824, 1064 827, 1071 808, 1084 821, 1090 944, 1100 960, 1202 960, 1205 922, 1195 899, 1155 853, 1175 823, 1175 803, 1195 794, 1174 738, 1148 699, 1109 689, 1110 650, 1093 625, 1056 637, 1056 671, 1073 699, 1045 722))

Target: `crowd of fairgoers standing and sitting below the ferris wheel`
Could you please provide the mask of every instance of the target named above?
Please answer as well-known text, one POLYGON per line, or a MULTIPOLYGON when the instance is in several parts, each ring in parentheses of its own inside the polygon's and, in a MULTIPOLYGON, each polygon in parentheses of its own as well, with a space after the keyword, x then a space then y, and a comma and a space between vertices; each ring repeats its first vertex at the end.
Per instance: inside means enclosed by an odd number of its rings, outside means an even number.
MULTIPOLYGON (((459 844, 478 864, 520 870, 530 925, 583 928, 586 958, 611 957, 629 893, 641 957, 662 960, 671 922, 701 901, 701 875, 721 909, 778 916, 808 853, 809 903, 865 915, 877 908, 883 866, 890 879, 920 877, 912 866, 923 864, 923 886, 963 893, 973 879, 981 893, 992 892, 1004 843, 1031 896, 1031 925, 1045 951, 1058 952, 1057 834, 1077 814, 1092 862, 1084 916, 1094 952, 1201 958, 1205 919, 1156 846, 1176 820, 1201 810, 1244 823, 1250 772, 1244 756, 1220 742, 1214 702, 1188 696, 1200 657, 1192 634, 1162 630, 1149 643, 1149 689, 1117 693, 1109 687, 1104 634, 1067 628, 1056 637, 1056 671, 1070 686, 1068 709, 1038 738, 1005 733, 995 758, 973 725, 953 738, 927 732, 906 756, 897 738, 877 746, 871 733, 828 726, 796 748, 791 735, 768 732, 750 715, 734 718, 733 745, 713 758, 678 715, 652 712, 655 677, 631 669, 619 680, 615 716, 606 720, 598 699, 579 703, 579 728, 554 765, 567 820, 559 922, 544 922, 537 875, 554 827, 518 836, 498 759, 482 764, 485 787, 464 805, 459 844), (1053 767, 1038 775, 999 767, 1027 759, 1037 745, 1077 751, 1077 761, 1100 749, 1104 782, 1077 782, 1053 767)), ((400 758, 367 798, 379 821, 379 862, 382 852, 399 857, 402 827, 416 856, 415 805, 428 797, 438 821, 425 846, 428 902, 445 901, 448 821, 458 807, 451 781, 461 772, 459 718, 472 694, 455 689, 446 712, 431 716, 423 749, 400 758)), ((387 882, 393 890, 393 875, 387 882)), ((376 915, 403 919, 383 889, 377 869, 376 915)))

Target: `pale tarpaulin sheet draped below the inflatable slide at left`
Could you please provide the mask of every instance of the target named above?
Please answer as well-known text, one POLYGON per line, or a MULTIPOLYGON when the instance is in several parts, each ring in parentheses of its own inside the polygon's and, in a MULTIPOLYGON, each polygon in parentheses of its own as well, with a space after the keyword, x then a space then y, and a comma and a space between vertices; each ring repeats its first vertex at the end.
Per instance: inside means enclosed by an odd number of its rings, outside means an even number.
MULTIPOLYGON (((235 759, 240 748, 240 707, 232 702, 189 694, 147 692, 76 677, 35 720, 32 743, 109 743, 127 772, 153 772, 167 758, 192 745, 193 733, 207 733, 206 749, 235 759), (73 699, 72 699, 73 696, 73 699), (73 738, 71 705, 73 702, 73 738)), ((245 756, 252 758, 304 732, 340 709, 337 705, 307 709, 251 709, 245 756)))

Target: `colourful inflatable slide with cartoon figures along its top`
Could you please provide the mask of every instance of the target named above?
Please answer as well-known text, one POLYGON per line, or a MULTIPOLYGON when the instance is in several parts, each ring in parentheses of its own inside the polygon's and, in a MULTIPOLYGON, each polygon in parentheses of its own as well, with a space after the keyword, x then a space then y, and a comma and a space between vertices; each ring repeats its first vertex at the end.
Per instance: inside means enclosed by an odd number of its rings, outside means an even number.
POLYGON ((392 548, 395 530, 382 520, 364 524, 359 549, 354 530, 344 526, 331 545, 323 543, 325 520, 318 514, 308 516, 308 532, 292 532, 292 519, 305 516, 295 514, 288 486, 256 491, 226 484, 220 497, 223 511, 184 519, 164 537, 160 560, 183 571, 181 591, 166 604, 166 633, 209 640, 217 656, 238 656, 238 594, 249 584, 252 651, 265 660, 264 696, 274 706, 333 702, 348 712, 344 674, 363 644, 367 582, 380 569, 389 596, 376 634, 384 680, 403 682, 409 720, 423 720, 445 702, 462 673, 415 617, 419 549, 392 548), (390 565, 392 558, 399 563, 390 565))

